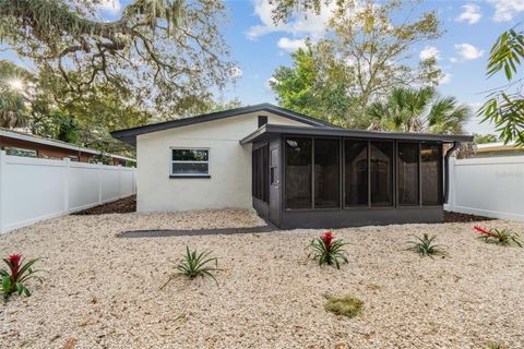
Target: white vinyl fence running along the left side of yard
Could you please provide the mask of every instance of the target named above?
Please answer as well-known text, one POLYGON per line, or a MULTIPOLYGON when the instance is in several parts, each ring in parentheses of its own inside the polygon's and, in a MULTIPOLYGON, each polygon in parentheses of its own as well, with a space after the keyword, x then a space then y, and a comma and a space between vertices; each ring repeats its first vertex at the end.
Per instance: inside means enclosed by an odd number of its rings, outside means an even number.
POLYGON ((135 176, 134 168, 0 151, 0 233, 132 195, 135 176))

